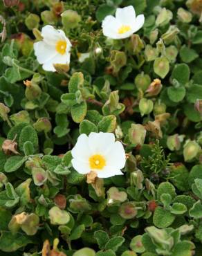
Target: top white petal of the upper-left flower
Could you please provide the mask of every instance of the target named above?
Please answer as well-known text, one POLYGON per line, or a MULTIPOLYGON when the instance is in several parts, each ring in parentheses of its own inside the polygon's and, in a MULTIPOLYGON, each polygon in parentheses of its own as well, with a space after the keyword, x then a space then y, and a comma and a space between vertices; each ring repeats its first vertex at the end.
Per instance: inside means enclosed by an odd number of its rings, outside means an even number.
POLYGON ((46 25, 42 28, 42 37, 46 44, 55 45, 57 41, 62 39, 62 35, 53 26, 46 25))

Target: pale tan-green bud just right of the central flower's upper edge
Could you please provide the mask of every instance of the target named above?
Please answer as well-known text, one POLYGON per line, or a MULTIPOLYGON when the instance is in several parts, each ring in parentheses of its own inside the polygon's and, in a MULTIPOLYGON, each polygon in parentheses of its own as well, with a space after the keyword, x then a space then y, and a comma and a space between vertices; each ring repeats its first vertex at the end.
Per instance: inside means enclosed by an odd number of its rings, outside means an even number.
POLYGON ((143 145, 146 137, 146 129, 143 125, 132 124, 129 129, 129 140, 132 144, 143 145))

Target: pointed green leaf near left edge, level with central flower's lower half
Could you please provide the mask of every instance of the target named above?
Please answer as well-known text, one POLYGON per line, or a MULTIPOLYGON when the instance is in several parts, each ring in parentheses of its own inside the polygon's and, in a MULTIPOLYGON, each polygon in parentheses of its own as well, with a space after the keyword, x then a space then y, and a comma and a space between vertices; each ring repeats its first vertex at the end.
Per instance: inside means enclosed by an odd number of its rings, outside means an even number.
POLYGON ((10 156, 4 165, 5 172, 15 172, 26 160, 26 156, 10 156))

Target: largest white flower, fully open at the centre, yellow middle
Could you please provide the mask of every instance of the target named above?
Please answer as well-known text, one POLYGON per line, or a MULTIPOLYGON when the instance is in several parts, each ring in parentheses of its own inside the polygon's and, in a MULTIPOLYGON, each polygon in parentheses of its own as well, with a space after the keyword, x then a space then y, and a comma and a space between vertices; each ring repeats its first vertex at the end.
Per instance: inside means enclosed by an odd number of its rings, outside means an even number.
POLYGON ((93 171, 99 178, 108 178, 122 175, 120 169, 125 167, 125 150, 111 133, 81 134, 71 154, 71 163, 80 174, 93 171))

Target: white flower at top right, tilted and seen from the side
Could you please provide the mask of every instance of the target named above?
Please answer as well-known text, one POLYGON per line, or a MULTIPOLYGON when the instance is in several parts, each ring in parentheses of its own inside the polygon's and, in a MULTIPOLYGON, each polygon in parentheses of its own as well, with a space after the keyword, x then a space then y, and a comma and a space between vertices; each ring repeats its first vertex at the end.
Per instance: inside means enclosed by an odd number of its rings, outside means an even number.
POLYGON ((108 15, 102 21, 103 34, 112 39, 122 39, 133 35, 142 28, 144 15, 138 15, 133 6, 116 9, 116 17, 108 15))

